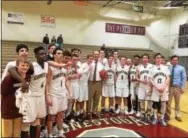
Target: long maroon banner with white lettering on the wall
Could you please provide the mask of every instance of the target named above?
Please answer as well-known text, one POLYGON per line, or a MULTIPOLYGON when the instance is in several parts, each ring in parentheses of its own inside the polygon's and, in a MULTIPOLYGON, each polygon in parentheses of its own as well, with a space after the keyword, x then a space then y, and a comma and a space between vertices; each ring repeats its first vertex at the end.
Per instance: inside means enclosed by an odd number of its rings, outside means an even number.
POLYGON ((146 28, 142 26, 106 23, 105 31, 109 33, 145 35, 146 28))

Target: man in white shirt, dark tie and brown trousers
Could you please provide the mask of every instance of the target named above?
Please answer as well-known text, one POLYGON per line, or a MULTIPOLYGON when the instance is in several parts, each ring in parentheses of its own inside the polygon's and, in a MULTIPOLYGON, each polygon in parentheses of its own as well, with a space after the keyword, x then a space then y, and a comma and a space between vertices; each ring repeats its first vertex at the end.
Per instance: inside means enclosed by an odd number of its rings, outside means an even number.
POLYGON ((100 77, 100 72, 104 69, 104 66, 101 62, 98 61, 99 51, 93 51, 94 61, 91 63, 92 69, 89 76, 89 100, 87 103, 87 112, 91 117, 97 116, 97 108, 99 104, 99 99, 102 92, 102 79, 100 77), (91 106, 93 101, 93 106, 91 106))

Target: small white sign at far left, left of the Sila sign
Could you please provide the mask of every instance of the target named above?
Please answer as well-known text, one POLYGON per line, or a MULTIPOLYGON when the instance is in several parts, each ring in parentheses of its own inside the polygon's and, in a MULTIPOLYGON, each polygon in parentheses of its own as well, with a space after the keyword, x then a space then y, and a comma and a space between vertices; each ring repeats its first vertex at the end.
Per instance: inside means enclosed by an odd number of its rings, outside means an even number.
POLYGON ((22 13, 8 13, 7 23, 9 24, 24 24, 24 14, 22 13))

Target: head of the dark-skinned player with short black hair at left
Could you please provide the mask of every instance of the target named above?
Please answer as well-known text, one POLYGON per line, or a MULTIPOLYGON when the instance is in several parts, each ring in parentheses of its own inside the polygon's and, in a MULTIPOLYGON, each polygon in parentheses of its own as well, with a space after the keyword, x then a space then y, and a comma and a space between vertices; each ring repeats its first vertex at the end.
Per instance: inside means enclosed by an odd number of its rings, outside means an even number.
POLYGON ((38 62, 44 62, 46 61, 46 53, 44 50, 44 47, 39 46, 34 49, 35 57, 38 62))

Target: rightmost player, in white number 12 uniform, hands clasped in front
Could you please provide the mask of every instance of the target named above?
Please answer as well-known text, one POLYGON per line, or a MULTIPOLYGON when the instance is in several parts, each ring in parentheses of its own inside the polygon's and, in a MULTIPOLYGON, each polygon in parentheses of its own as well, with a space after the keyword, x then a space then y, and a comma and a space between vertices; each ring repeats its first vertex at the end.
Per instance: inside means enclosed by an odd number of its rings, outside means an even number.
POLYGON ((163 126, 166 126, 166 122, 164 121, 164 115, 166 112, 166 103, 168 101, 169 94, 169 82, 170 82, 170 72, 168 67, 162 64, 162 55, 157 53, 154 55, 155 65, 152 70, 150 70, 150 81, 151 81, 151 89, 152 95, 151 99, 153 101, 153 112, 154 119, 152 121, 153 125, 158 123, 157 119, 157 104, 161 101, 161 119, 160 123, 163 126))

